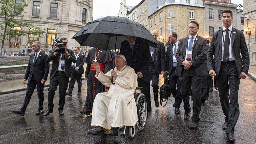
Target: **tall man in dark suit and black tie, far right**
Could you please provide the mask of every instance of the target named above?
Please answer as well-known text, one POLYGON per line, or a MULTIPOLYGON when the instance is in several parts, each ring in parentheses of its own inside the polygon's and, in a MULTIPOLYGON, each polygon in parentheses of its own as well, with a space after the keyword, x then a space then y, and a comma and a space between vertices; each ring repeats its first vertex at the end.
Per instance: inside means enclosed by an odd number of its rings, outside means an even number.
POLYGON ((210 76, 216 76, 217 80, 219 98, 225 115, 222 128, 226 129, 228 141, 233 142, 235 141, 234 127, 239 117, 240 78, 246 78, 250 61, 244 34, 232 27, 232 20, 232 11, 224 10, 221 20, 223 27, 213 33, 208 50, 207 66, 210 76))

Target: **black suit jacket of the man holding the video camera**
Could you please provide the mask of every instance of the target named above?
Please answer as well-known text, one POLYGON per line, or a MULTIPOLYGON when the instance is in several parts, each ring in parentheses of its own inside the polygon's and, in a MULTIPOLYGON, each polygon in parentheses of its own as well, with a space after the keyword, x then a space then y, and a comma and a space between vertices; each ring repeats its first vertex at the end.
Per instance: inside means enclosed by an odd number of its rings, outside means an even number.
MULTIPOLYGON (((76 63, 76 59, 74 56, 72 56, 71 54, 73 54, 71 49, 68 49, 68 53, 70 54, 70 57, 68 58, 66 55, 62 54, 64 56, 65 59, 65 74, 67 77, 71 77, 71 72, 72 72, 72 67, 71 67, 71 63, 74 62, 76 63)), ((52 65, 52 70, 50 73, 50 80, 53 78, 53 76, 55 75, 56 71, 58 70, 59 67, 59 59, 60 59, 60 54, 57 54, 56 56, 54 55, 54 53, 52 53, 51 55, 49 55, 47 57, 47 61, 53 61, 53 65, 52 65)))

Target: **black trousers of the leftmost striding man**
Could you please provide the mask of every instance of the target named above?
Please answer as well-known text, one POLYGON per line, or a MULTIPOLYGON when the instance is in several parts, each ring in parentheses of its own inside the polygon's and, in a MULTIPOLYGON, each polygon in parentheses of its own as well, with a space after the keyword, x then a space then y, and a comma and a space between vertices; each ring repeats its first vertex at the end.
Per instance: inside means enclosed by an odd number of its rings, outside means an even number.
POLYGON ((37 86, 37 96, 39 99, 38 110, 43 110, 43 103, 44 103, 44 84, 42 85, 41 82, 36 82, 34 75, 32 75, 31 80, 28 82, 28 89, 26 91, 26 96, 20 111, 24 112, 27 109, 28 103, 33 95, 35 90, 35 86, 37 86))

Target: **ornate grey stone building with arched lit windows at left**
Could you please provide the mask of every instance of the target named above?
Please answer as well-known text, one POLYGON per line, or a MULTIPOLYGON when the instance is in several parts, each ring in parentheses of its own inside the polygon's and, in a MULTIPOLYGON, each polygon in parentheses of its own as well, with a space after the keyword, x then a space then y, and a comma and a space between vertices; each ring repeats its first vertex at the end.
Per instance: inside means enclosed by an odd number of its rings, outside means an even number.
MULTIPOLYGON (((16 3, 21 0, 15 0, 16 3)), ((35 27, 45 29, 46 33, 38 35, 22 35, 8 38, 4 42, 4 50, 8 52, 25 49, 25 44, 40 41, 48 48, 55 37, 67 37, 68 48, 80 46, 71 39, 76 32, 93 20, 93 0, 31 0, 24 12, 18 15, 20 21, 30 21, 32 27, 13 27, 13 30, 29 31, 35 27), (25 13, 26 12, 26 13, 25 13)), ((0 17, 0 21, 2 21, 0 17)), ((0 42, 1 44, 1 42, 0 42)))

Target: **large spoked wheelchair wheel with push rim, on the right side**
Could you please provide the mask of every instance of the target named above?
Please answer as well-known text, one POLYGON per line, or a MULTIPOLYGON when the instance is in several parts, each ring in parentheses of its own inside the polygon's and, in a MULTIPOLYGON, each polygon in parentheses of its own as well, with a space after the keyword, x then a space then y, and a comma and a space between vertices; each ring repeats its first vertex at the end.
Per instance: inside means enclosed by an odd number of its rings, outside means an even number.
POLYGON ((143 130, 147 123, 147 101, 143 93, 140 93, 136 99, 138 122, 136 126, 139 130, 143 130))

